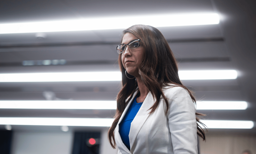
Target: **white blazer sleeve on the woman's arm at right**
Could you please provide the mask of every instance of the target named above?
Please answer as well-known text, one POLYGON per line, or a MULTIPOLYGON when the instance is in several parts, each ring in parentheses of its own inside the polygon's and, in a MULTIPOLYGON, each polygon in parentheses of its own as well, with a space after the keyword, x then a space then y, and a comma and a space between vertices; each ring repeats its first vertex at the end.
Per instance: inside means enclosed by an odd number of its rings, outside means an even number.
POLYGON ((196 109, 188 91, 172 87, 165 96, 168 100, 168 125, 174 153, 197 154, 196 109))

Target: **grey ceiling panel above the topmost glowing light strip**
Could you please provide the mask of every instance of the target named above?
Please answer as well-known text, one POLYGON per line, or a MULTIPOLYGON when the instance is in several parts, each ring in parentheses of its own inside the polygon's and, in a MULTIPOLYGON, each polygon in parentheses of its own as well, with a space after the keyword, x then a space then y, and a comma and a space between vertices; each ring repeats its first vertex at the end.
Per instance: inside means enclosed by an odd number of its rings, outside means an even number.
POLYGON ((211 1, 2 0, 1 23, 155 13, 214 12, 211 1), (130 7, 132 5, 132 7, 130 7))

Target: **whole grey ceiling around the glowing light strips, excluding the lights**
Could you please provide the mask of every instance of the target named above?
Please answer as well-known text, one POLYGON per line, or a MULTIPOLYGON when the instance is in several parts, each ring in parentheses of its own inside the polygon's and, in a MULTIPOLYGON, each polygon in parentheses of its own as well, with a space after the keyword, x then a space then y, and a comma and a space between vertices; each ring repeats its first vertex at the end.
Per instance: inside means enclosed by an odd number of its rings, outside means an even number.
MULTIPOLYGON (((81 1, 41 0, 0 2, 0 24, 161 13, 218 13, 218 25, 158 28, 169 42, 179 70, 238 71, 236 80, 184 80, 197 100, 247 101, 246 110, 197 112, 214 120, 252 120, 256 133, 255 42, 256 11, 253 1, 238 0, 142 0, 81 1)), ((139 20, 139 19, 138 19, 139 20)), ((124 21, 123 22, 129 22, 124 21)), ((102 23, 107 24, 107 23, 102 23)), ((132 25, 131 25, 132 26, 132 25)), ((128 27, 127 27, 128 28, 128 27)), ((119 71, 115 47, 123 29, 68 32, 0 34, 0 72, 75 72, 119 71), (24 66, 23 61, 65 59, 64 65, 24 66)), ((0 100, 115 100, 120 82, 0 83, 0 100), (98 88, 99 91, 95 91, 98 88)), ((0 109, 0 117, 101 117, 113 110, 0 109)), ((0 125, 3 128, 3 125, 0 125)), ((13 129, 50 129, 53 127, 13 126, 13 129)), ((81 129, 81 128, 79 128, 81 129)))

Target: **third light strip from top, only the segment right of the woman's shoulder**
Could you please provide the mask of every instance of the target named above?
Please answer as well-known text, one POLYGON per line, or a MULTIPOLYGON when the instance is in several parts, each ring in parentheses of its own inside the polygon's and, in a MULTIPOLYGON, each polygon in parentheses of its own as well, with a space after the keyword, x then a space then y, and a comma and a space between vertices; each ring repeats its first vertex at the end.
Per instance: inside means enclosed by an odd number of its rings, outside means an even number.
POLYGON ((197 110, 245 110, 248 104, 245 101, 197 101, 197 110))

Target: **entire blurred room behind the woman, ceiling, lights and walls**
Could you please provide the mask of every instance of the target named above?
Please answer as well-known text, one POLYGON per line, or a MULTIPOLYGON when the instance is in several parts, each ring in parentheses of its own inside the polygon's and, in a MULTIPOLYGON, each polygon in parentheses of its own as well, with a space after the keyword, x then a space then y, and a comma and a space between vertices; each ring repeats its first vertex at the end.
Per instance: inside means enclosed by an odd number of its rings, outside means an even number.
POLYGON ((121 44, 122 30, 147 24, 146 16, 152 16, 151 26, 167 39, 179 71, 237 73, 232 79, 210 80, 200 76, 225 73, 200 72, 193 75, 196 80, 189 76, 182 80, 194 91, 197 112, 207 114, 209 131, 206 142, 198 139, 199 153, 256 153, 255 8, 250 0, 1 0, 0 153, 117 153, 107 131, 121 81, 107 72, 119 71, 116 46, 121 44), (183 17, 153 19, 212 13, 218 14, 217 23, 184 26, 174 24, 190 21, 183 17), (63 20, 72 21, 59 22, 63 20), (86 22, 79 25, 74 20, 86 22), (33 25, 42 21, 49 23, 33 25), (82 28, 74 28, 78 25, 82 28), (82 79, 73 80, 79 76, 82 79), (87 80, 88 76, 93 79, 87 80), (225 107, 227 103, 231 104, 225 107))

